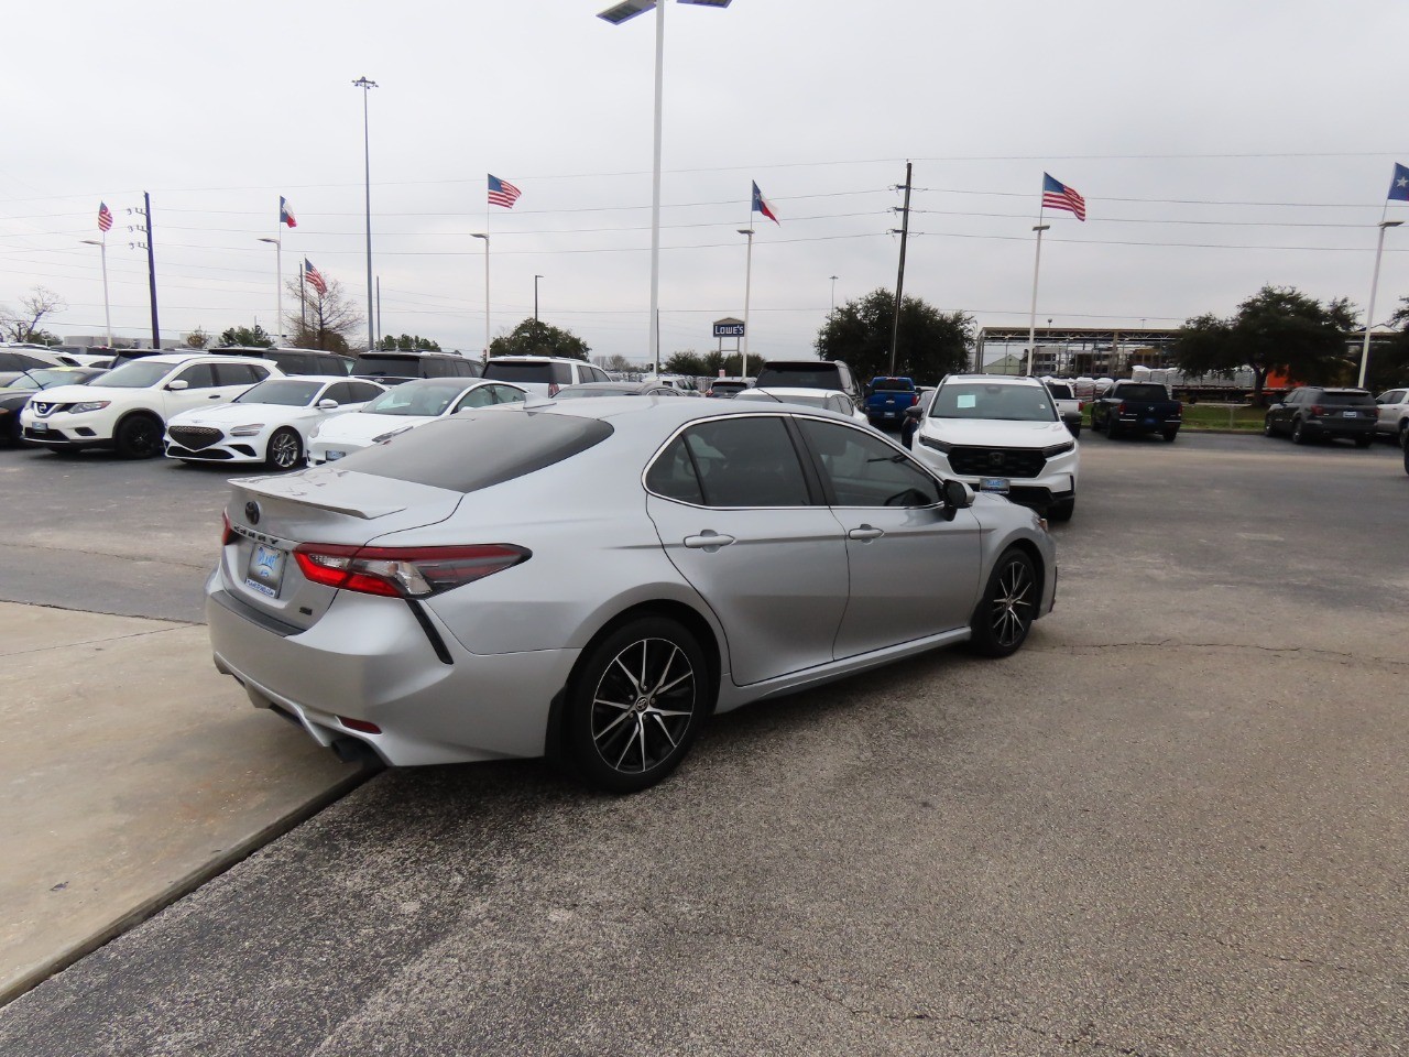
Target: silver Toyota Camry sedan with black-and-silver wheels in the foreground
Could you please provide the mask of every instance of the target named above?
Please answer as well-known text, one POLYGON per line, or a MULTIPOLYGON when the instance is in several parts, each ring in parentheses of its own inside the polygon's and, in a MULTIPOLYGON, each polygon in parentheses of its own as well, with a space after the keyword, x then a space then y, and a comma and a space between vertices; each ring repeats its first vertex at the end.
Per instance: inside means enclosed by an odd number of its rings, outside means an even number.
POLYGON ((216 667, 342 755, 548 755, 644 789, 712 712, 1048 613, 1045 524, 786 404, 466 412, 234 483, 216 667))

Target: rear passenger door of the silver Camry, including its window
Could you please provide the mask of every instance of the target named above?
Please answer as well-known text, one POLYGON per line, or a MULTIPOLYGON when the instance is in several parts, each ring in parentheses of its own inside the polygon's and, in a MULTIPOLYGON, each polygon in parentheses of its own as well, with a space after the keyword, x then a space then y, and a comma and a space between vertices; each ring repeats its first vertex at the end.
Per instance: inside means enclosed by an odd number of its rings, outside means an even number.
POLYGON ((689 426, 645 485, 665 554, 724 629, 735 685, 833 660, 847 543, 782 416, 689 426))

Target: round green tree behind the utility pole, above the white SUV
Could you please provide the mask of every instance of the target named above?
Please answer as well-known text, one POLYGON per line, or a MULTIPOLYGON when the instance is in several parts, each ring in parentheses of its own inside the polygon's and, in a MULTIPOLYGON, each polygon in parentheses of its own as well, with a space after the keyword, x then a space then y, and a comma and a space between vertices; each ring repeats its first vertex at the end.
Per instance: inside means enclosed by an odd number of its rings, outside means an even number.
MULTIPOLYGON (((890 373, 890 335, 895 327, 895 293, 883 288, 859 300, 837 306, 817 331, 817 355, 844 359, 857 381, 890 373)), ((974 317, 940 311, 919 297, 900 303, 900 331, 895 373, 916 382, 937 382, 962 371, 974 344, 974 317)))

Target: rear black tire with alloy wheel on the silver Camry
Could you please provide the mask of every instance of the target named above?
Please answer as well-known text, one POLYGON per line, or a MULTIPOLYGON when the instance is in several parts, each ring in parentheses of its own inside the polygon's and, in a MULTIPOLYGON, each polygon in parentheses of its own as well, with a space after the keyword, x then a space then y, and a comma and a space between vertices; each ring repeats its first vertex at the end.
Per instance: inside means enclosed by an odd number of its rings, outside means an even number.
POLYGON ((638 792, 679 765, 713 705, 695 636, 666 617, 641 617, 602 638, 573 672, 568 746, 592 785, 638 792))

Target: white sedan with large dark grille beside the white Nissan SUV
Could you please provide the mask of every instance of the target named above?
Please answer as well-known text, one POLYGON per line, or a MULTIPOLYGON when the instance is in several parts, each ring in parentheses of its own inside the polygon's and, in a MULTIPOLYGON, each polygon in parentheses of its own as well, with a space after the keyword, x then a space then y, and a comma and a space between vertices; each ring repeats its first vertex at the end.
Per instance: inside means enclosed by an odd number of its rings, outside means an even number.
POLYGON ((386 386, 347 375, 271 378, 220 407, 197 407, 166 423, 166 458, 182 462, 303 465, 309 437, 328 419, 359 412, 386 386))

